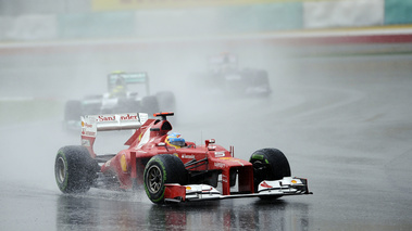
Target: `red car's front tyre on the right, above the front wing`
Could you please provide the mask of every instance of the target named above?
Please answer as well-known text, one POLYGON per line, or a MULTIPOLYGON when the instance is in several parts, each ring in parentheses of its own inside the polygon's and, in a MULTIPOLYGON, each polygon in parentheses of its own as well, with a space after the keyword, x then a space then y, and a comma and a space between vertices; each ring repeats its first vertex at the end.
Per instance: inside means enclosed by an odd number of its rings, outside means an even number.
POLYGON ((254 191, 263 180, 280 180, 290 177, 290 166, 285 154, 276 149, 261 149, 250 156, 253 165, 254 191))

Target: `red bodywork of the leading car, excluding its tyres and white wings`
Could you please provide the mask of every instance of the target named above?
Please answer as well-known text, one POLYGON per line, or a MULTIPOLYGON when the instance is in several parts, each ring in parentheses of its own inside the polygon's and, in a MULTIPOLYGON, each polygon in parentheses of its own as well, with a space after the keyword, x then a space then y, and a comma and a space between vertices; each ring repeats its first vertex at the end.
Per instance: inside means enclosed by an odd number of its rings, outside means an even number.
MULTIPOLYGON (((178 156, 184 164, 195 162, 193 159, 203 161, 199 165, 187 167, 189 172, 217 170, 222 174, 223 195, 230 195, 230 169, 237 170, 238 192, 254 193, 251 163, 233 157, 232 149, 227 151, 223 146, 216 145, 214 140, 207 140, 203 145, 186 142, 185 147, 170 146, 165 143, 165 139, 171 130, 172 125, 165 117, 148 119, 126 141, 125 145, 129 145, 129 147, 120 151, 113 158, 105 162, 101 166, 101 172, 116 176, 122 189, 132 189, 136 181, 140 185, 143 183, 145 166, 152 156, 173 154, 178 156)), ((97 157, 92 149, 95 139, 95 137, 82 136, 82 143, 88 147, 92 157, 97 157)), ((174 188, 176 189, 165 193, 178 193, 179 191, 184 193, 184 188, 178 185, 174 188)))

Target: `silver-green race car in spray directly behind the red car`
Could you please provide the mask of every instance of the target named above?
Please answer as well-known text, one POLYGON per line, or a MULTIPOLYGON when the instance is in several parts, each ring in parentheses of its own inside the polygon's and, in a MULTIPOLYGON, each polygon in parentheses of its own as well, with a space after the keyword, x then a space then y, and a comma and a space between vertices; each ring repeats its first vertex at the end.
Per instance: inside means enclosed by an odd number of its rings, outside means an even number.
POLYGON ((67 101, 64 107, 64 126, 80 129, 80 116, 95 114, 175 111, 175 95, 170 91, 150 94, 147 73, 112 73, 108 75, 108 92, 86 95, 82 100, 67 101), (129 91, 130 86, 143 87, 141 91, 129 91))

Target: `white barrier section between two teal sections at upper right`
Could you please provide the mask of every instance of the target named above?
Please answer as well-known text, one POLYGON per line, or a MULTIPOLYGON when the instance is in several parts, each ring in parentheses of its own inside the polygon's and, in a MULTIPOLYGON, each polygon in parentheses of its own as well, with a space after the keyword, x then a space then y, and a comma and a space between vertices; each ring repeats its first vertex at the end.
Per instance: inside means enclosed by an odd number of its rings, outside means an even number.
POLYGON ((304 1, 303 28, 379 26, 385 0, 304 1))

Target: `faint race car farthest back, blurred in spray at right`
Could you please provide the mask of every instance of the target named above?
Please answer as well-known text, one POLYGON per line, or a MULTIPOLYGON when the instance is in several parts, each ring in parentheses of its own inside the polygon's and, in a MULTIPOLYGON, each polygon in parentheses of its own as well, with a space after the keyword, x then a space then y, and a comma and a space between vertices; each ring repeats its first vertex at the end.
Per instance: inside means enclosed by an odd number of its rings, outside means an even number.
POLYGON ((209 57, 208 73, 199 77, 201 86, 217 88, 227 95, 269 97, 272 92, 266 70, 239 68, 238 57, 230 53, 209 57))

